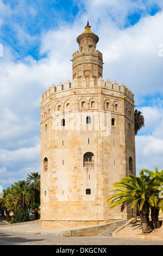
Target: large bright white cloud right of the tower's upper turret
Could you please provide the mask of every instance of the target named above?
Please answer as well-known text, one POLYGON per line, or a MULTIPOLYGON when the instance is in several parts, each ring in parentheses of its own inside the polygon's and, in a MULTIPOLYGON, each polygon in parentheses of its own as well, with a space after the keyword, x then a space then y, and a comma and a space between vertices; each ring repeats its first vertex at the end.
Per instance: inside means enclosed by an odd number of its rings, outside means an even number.
POLYGON ((123 31, 102 26, 99 46, 105 63, 105 80, 123 82, 135 94, 136 105, 139 97, 161 92, 163 58, 158 56, 159 44, 163 42, 163 13, 143 18, 133 27, 123 31), (104 32, 105 28, 105 32, 104 32), (104 39, 104 40, 103 40, 104 39))

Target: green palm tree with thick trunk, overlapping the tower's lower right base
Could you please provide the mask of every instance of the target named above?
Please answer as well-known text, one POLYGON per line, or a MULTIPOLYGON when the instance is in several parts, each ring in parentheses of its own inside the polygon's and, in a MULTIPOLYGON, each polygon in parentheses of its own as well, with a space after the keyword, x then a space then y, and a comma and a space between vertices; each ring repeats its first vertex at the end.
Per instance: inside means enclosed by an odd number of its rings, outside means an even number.
MULTIPOLYGON (((152 231, 152 225, 149 221, 149 194, 153 192, 152 181, 149 176, 140 175, 136 177, 134 174, 122 178, 121 181, 115 182, 116 193, 108 196, 107 202, 110 208, 114 208, 121 205, 121 211, 131 204, 133 209, 137 204, 140 211, 141 226, 143 233, 150 233, 152 231), (117 193, 118 192, 118 193, 117 193)), ((111 192, 111 191, 110 191, 111 192)))

